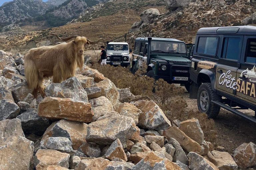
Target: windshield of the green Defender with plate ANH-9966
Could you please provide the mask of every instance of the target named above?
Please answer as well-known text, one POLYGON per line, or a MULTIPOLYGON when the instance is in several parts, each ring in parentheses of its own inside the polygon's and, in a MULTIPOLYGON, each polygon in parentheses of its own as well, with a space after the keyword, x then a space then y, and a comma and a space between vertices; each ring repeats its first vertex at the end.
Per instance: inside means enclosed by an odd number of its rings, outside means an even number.
POLYGON ((185 43, 179 42, 151 42, 151 51, 181 52, 186 53, 185 43))

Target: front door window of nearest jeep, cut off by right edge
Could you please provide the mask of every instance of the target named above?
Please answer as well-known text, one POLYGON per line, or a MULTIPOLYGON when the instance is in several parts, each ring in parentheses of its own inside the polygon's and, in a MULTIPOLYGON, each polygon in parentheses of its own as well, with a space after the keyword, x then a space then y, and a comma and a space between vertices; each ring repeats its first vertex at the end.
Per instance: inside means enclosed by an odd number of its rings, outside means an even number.
POLYGON ((256 39, 247 40, 245 62, 256 64, 256 39))

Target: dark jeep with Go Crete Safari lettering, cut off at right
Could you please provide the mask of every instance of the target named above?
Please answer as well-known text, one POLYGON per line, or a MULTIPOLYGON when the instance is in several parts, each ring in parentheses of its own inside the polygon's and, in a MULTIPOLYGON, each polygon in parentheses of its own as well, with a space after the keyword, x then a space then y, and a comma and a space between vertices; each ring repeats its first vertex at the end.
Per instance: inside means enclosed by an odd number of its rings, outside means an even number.
POLYGON ((201 28, 190 67, 190 98, 216 118, 220 107, 256 123, 256 27, 201 28))

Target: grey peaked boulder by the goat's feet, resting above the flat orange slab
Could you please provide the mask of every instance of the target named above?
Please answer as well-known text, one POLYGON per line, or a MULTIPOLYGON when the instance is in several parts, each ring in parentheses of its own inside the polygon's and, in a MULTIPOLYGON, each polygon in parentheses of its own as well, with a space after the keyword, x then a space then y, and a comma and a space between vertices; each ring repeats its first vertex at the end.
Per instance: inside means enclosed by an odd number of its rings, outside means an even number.
POLYGON ((76 77, 70 77, 62 83, 51 83, 45 89, 45 94, 47 97, 71 98, 88 103, 87 93, 76 77))

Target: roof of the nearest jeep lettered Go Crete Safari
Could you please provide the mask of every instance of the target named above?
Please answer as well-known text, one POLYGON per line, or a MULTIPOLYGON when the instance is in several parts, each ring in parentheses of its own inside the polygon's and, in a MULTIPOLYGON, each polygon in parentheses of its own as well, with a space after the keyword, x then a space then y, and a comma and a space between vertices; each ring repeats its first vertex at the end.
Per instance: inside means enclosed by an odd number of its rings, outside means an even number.
POLYGON ((196 34, 233 34, 233 35, 256 34, 256 27, 233 26, 233 27, 200 28, 196 34), (218 30, 218 33, 217 33, 217 30, 218 30))

